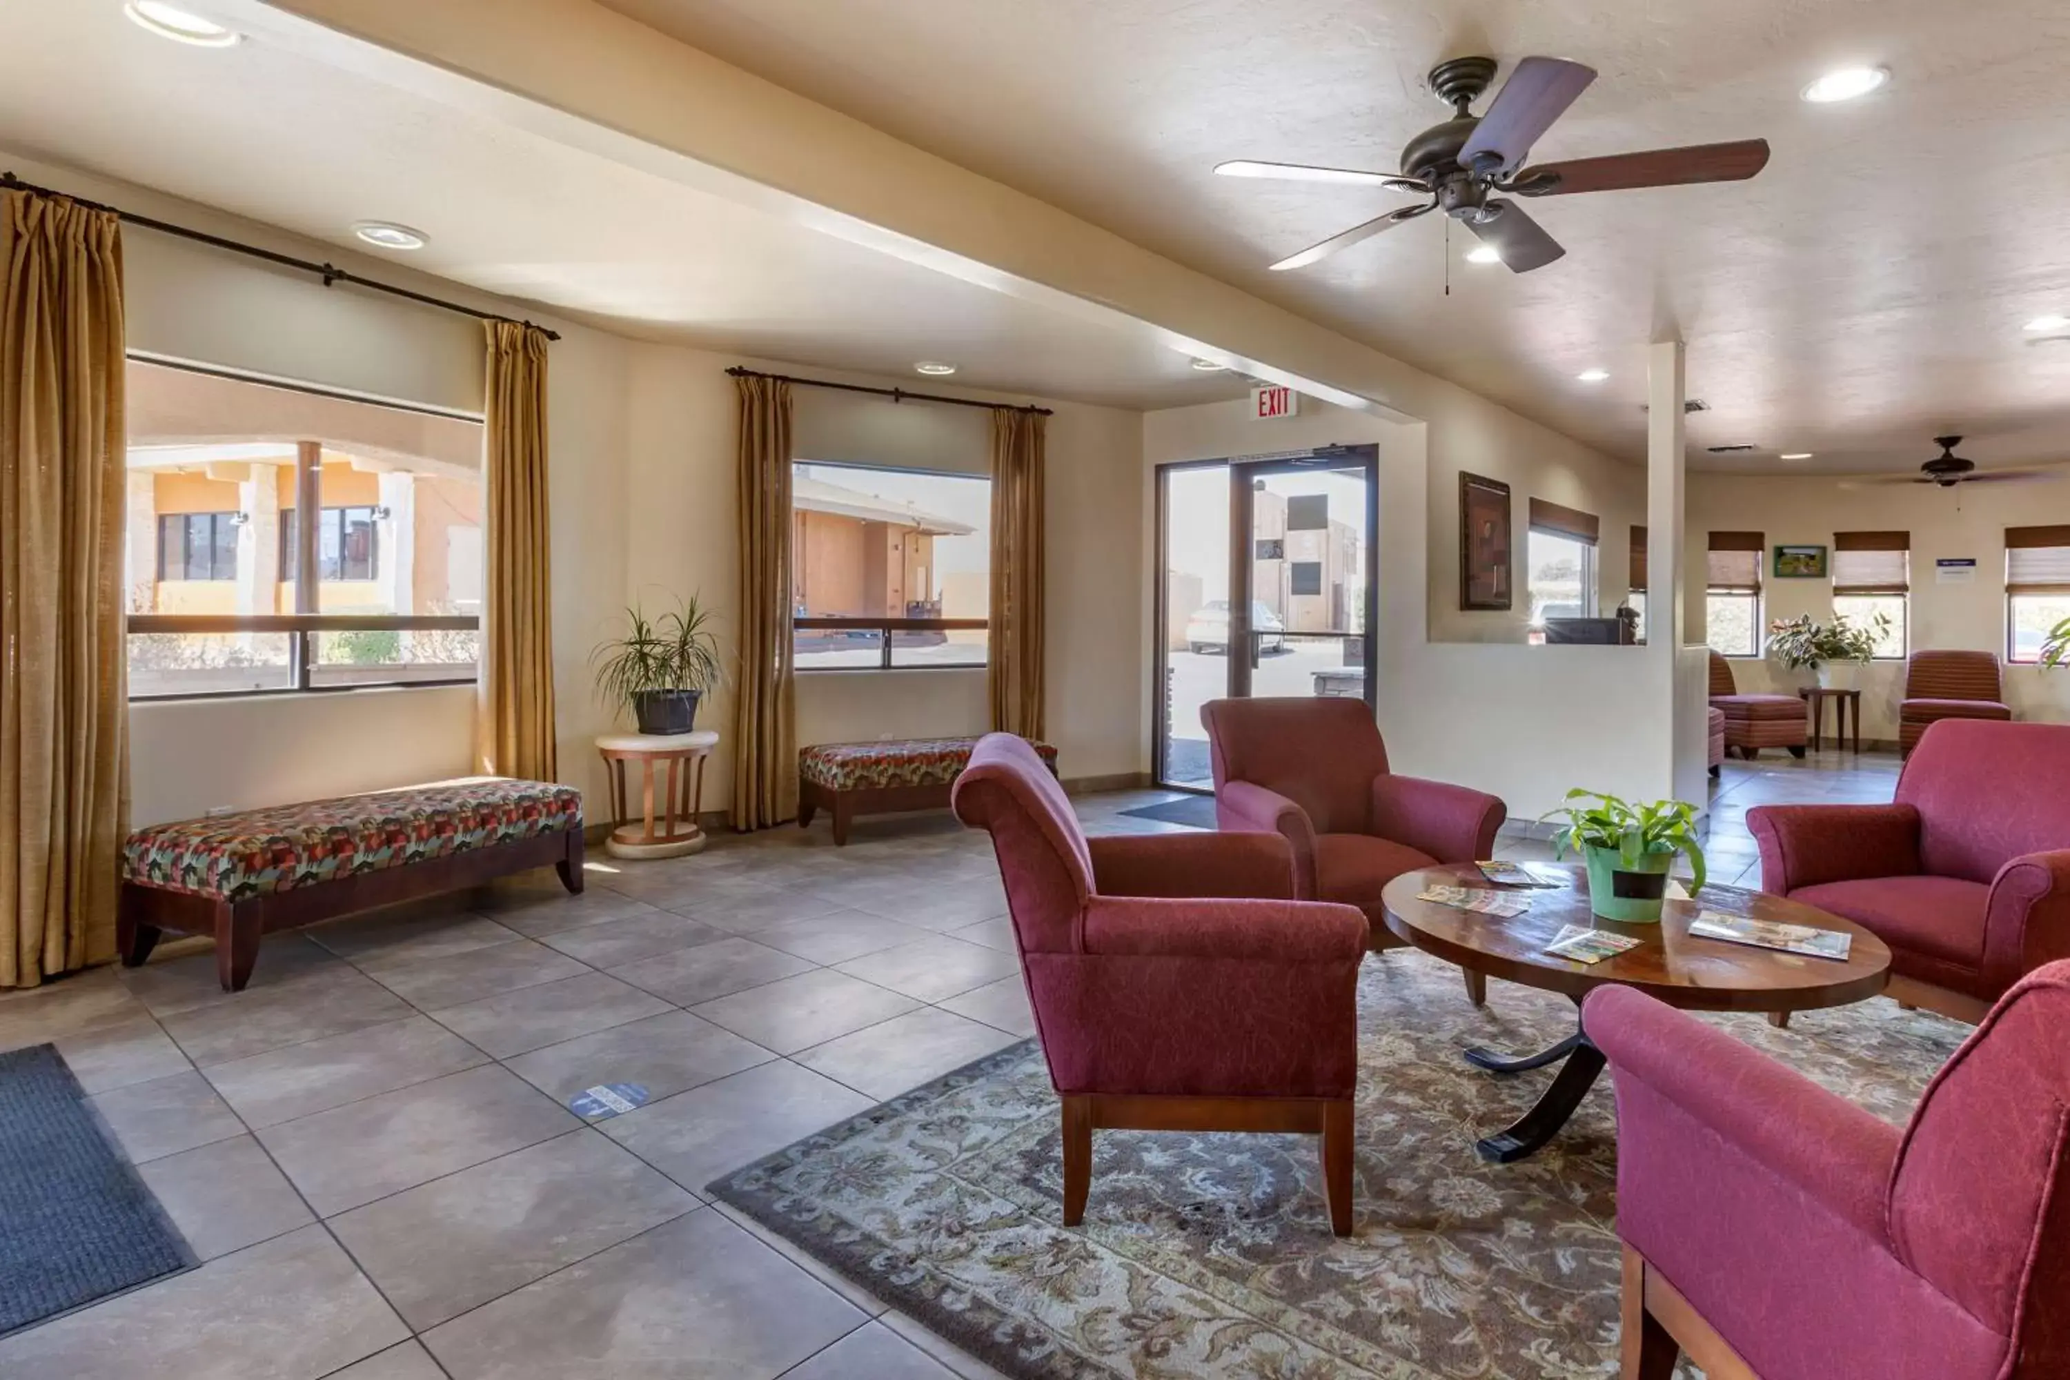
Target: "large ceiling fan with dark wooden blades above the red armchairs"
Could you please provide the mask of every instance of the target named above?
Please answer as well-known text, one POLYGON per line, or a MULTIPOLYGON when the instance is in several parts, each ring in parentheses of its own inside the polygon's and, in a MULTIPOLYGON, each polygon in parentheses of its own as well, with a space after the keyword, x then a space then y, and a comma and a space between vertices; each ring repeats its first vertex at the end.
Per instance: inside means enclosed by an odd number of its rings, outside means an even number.
POLYGON ((1488 114, 1474 116, 1472 106, 1495 81, 1495 58, 1451 58, 1430 68, 1430 91, 1451 106, 1451 120, 1432 124, 1401 149, 1399 174, 1248 159, 1219 163, 1215 172, 1225 178, 1343 182, 1430 197, 1426 203, 1387 211, 1362 226, 1352 226, 1343 234, 1310 244, 1271 267, 1275 271, 1304 269, 1329 259, 1339 248, 1443 209, 1445 215, 1463 223, 1501 254, 1511 271, 1530 273, 1567 250, 1509 197, 1567 197, 1633 186, 1739 182, 1768 166, 1768 141, 1743 139, 1739 143, 1650 149, 1524 168, 1532 145, 1573 106, 1588 83, 1596 81, 1596 70, 1565 58, 1524 58, 1503 83, 1495 103, 1488 106, 1488 114))

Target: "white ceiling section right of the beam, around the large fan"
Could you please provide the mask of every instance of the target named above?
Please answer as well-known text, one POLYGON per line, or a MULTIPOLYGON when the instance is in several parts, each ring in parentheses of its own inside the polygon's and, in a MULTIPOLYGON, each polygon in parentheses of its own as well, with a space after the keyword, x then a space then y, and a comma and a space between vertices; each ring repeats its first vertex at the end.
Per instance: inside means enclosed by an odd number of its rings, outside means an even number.
POLYGON ((1689 341, 1691 447, 1782 470, 2070 457, 2070 12, 2060 0, 604 0, 729 62, 1107 226, 1619 455, 1642 346, 1689 341), (1546 199, 1517 277, 1437 217, 1302 273, 1265 265, 1397 199, 1234 182, 1230 157, 1393 170, 1445 116, 1441 58, 1602 77, 1542 159, 1766 137, 1753 182, 1546 199), (1842 64, 1894 83, 1797 93, 1842 64), (1451 269, 1451 294, 1445 273, 1451 269), (1594 389, 1573 374, 1604 366, 1594 389))

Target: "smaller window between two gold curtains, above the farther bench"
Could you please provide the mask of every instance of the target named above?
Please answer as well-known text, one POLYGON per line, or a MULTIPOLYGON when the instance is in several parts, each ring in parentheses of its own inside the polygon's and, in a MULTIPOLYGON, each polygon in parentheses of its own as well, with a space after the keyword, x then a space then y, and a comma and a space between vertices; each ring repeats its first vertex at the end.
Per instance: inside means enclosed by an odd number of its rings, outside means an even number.
POLYGON ((799 670, 983 666, 992 480, 795 461, 791 608, 799 670))

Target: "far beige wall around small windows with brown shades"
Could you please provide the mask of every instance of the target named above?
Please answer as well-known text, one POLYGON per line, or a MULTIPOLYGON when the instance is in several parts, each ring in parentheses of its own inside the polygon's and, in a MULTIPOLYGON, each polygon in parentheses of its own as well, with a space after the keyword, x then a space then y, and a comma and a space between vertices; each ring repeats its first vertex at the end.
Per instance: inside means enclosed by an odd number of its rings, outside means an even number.
MULTIPOLYGON (((1726 474, 1689 476, 1689 590, 1691 637, 1704 635, 1704 548, 1712 528, 1762 532, 1770 552, 1762 557, 1762 619, 1791 619, 1809 612, 1832 617, 1830 579, 1776 579, 1772 550, 1778 544, 1832 546, 1834 532, 1904 530, 1911 552, 1911 646, 1971 648, 2006 654, 2006 528, 2070 521, 2070 466, 2053 478, 2031 484, 1964 484, 1956 490, 1929 484, 1861 484, 1822 476, 1741 478, 1726 474), (1973 557, 1973 583, 1938 583, 1933 563, 1944 557, 1973 557)), ((1809 674, 1784 670, 1772 660, 1733 660, 1743 691, 1791 691, 1809 674)), ((1898 737, 1898 701, 1904 697, 1904 668, 1875 662, 1863 672, 1863 737, 1898 737)), ((2020 718, 2070 722, 2070 672, 2035 666, 2006 668, 2006 699, 2020 718)), ((1828 710, 1830 714, 1830 710, 1828 710)))

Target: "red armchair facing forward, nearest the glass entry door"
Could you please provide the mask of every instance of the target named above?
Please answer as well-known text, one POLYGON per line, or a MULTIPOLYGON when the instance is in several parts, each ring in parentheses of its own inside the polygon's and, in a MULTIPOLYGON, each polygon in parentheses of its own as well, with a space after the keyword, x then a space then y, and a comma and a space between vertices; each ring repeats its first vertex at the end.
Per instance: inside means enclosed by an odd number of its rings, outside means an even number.
POLYGON ((1509 813, 1503 803, 1389 772, 1387 745, 1360 699, 1213 699, 1201 706, 1201 722, 1215 821, 1230 834, 1285 838, 1298 894, 1364 910, 1374 948, 1399 943, 1381 917, 1389 881, 1435 863, 1495 857, 1495 832, 1509 813))

